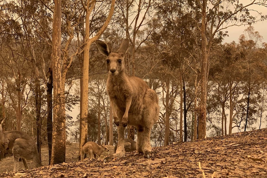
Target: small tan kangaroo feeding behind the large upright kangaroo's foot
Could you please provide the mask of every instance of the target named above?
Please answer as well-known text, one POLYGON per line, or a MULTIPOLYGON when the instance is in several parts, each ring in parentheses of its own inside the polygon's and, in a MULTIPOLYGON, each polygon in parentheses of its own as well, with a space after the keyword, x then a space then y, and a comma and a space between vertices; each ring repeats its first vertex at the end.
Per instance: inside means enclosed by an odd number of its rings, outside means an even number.
POLYGON ((109 151, 106 146, 98 145, 93 141, 85 143, 81 150, 81 160, 84 159, 84 155, 89 154, 90 159, 96 158, 96 155, 100 156, 104 151, 109 151))

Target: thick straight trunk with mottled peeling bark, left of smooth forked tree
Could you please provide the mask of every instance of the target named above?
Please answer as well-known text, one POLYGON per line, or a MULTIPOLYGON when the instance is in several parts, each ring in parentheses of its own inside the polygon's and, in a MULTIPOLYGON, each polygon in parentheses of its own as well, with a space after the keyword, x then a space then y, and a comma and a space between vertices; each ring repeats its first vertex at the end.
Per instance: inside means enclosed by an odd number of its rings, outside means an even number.
POLYGON ((54 117, 52 132, 51 164, 65 162, 66 155, 66 120, 64 82, 61 76, 61 0, 55 0, 52 30, 52 71, 54 117))

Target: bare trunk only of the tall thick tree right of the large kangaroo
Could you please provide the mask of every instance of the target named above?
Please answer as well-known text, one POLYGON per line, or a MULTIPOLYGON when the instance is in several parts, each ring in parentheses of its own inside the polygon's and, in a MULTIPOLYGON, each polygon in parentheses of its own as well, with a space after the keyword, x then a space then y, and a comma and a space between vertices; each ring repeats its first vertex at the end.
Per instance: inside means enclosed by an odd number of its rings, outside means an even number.
POLYGON ((199 123, 198 123, 198 138, 203 139, 206 136, 206 107, 207 107, 207 38, 206 38, 206 7, 207 0, 203 0, 202 4, 202 22, 201 22, 201 95, 199 103, 199 123))

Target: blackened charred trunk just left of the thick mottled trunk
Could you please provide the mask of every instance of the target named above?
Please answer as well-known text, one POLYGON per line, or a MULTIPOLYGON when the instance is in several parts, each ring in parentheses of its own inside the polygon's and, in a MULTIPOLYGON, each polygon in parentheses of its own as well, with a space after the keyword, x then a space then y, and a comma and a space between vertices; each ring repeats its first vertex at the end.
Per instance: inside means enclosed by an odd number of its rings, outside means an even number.
POLYGON ((53 72, 52 68, 49 67, 47 72, 47 142, 48 142, 48 152, 49 152, 49 164, 51 163, 51 153, 52 153, 52 114, 53 114, 53 103, 52 103, 52 90, 53 90, 53 72))

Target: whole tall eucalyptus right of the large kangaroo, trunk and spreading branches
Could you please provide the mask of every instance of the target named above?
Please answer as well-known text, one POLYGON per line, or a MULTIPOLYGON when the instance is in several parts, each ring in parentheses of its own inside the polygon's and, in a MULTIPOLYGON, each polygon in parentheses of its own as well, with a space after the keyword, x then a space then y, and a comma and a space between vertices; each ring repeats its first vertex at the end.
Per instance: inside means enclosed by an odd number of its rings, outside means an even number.
POLYGON ((207 107, 207 82, 210 66, 210 51, 214 42, 214 37, 223 37, 224 30, 230 26, 240 26, 252 24, 257 21, 265 20, 266 16, 259 11, 254 11, 252 5, 266 6, 265 0, 253 0, 247 4, 240 1, 228 0, 203 0, 189 1, 192 11, 195 14, 195 27, 201 32, 201 97, 199 106, 199 139, 206 135, 206 107, 207 107), (199 18, 200 17, 200 18, 199 18), (199 25, 201 23, 201 25, 199 25))

